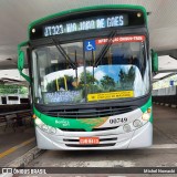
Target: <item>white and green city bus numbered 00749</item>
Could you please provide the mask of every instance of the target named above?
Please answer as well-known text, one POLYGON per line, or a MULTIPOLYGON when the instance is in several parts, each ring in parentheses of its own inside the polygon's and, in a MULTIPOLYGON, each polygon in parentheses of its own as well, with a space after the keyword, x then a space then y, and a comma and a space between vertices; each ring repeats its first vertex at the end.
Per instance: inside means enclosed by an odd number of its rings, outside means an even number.
POLYGON ((32 87, 39 148, 152 145, 152 70, 158 62, 143 7, 96 6, 42 18, 29 25, 18 53, 32 87))

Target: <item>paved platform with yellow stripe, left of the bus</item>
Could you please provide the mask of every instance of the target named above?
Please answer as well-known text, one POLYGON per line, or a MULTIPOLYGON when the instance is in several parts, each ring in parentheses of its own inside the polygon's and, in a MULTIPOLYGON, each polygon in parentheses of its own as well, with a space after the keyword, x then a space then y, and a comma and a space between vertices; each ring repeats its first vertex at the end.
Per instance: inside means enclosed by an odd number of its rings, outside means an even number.
POLYGON ((18 127, 17 132, 11 127, 6 132, 0 129, 0 167, 7 166, 35 146, 33 127, 18 127))

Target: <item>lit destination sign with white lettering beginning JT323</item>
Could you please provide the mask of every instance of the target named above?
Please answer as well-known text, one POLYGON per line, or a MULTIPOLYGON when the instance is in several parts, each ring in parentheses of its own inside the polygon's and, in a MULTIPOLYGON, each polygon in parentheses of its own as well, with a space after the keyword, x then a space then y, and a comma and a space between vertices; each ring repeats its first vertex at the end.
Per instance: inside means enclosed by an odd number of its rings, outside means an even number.
POLYGON ((43 28, 43 37, 59 35, 71 32, 106 29, 113 27, 128 25, 128 15, 106 15, 101 18, 80 19, 58 24, 50 24, 43 28))

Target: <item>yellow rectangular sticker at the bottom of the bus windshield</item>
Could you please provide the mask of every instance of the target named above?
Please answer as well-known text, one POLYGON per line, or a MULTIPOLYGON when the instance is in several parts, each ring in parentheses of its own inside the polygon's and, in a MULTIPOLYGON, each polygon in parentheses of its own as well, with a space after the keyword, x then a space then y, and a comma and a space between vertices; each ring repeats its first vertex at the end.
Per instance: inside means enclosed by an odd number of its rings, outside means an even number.
POLYGON ((133 91, 119 91, 119 92, 110 92, 110 93, 96 93, 88 94, 87 101, 102 101, 102 100, 113 100, 113 98, 122 98, 122 97, 134 97, 133 91))

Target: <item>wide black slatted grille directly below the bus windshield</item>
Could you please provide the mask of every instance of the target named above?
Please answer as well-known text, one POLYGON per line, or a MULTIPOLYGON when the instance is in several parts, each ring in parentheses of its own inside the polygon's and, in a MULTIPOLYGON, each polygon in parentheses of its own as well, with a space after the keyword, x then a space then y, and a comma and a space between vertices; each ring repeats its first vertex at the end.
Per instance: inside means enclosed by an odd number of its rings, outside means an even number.
POLYGON ((64 118, 95 118, 112 116, 117 114, 127 113, 137 108, 136 106, 107 106, 107 107, 96 107, 96 108, 70 108, 70 110, 54 110, 54 111, 43 111, 52 117, 64 117, 64 118))

